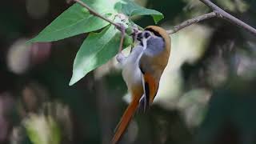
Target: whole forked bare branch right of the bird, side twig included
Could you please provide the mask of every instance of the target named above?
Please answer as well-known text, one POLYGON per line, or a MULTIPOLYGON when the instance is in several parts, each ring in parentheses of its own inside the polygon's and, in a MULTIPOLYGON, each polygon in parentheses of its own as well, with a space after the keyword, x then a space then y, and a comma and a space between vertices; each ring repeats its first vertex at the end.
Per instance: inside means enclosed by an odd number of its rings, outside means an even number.
POLYGON ((189 20, 186 20, 185 22, 182 22, 178 26, 174 26, 173 30, 167 30, 168 34, 174 34, 174 33, 178 32, 178 30, 182 30, 186 26, 190 26, 194 23, 201 22, 203 20, 216 17, 216 18, 226 19, 229 22, 234 23, 235 25, 248 30, 251 34, 256 35, 256 30, 254 29, 254 27, 249 26, 248 24, 246 24, 245 22, 242 22, 238 18, 235 18, 233 15, 227 13, 225 10, 222 10, 220 7, 215 5, 213 2, 210 2, 210 0, 199 0, 199 1, 203 2, 206 6, 209 6, 210 9, 213 11, 211 13, 203 14, 196 18, 191 18, 189 20))

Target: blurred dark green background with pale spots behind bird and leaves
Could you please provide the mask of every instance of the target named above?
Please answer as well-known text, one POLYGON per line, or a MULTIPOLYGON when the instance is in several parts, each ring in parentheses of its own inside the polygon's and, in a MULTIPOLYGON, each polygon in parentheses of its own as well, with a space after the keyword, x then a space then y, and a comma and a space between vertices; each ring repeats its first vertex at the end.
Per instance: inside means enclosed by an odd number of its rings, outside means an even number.
MULTIPOLYGON (((198 0, 137 2, 162 12, 166 30, 210 12, 198 0)), ((256 27, 254 0, 213 2, 256 27)), ((130 99, 115 58, 68 86, 86 34, 26 45, 68 6, 64 0, 1 2, 1 144, 110 143, 130 99)), ((150 17, 135 19, 154 25, 150 17)), ((213 18, 171 38, 154 105, 135 115, 120 143, 256 143, 256 37, 213 18)))

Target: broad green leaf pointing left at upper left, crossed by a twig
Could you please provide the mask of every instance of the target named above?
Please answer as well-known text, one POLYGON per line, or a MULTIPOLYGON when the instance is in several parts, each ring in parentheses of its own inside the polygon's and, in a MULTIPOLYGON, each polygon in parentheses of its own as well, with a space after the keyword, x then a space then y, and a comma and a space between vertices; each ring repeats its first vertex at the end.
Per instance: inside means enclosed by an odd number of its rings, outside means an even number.
MULTIPOLYGON (((115 4, 119 0, 82 0, 93 10, 106 18, 113 19, 117 14, 115 4)), ((29 42, 52 42, 63 38, 69 38, 77 34, 88 33, 102 29, 109 23, 100 18, 94 17, 84 7, 74 4, 58 16, 49 26, 46 26, 38 36, 29 42)))

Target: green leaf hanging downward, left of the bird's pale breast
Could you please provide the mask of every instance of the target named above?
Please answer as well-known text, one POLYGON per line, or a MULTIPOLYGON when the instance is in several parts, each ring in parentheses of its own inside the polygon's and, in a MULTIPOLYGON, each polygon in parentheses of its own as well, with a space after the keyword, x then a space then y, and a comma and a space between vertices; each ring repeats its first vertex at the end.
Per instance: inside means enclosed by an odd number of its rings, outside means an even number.
POLYGON ((120 36, 114 26, 107 26, 101 33, 90 33, 74 59, 70 86, 113 58, 118 53, 120 36))

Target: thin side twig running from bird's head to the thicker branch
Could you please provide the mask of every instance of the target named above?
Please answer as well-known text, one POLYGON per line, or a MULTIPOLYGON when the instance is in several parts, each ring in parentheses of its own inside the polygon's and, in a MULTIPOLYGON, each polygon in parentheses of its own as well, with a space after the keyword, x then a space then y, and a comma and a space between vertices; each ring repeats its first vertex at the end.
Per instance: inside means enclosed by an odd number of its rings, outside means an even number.
POLYGON ((213 11, 213 12, 208 13, 208 14, 200 15, 200 16, 198 16, 196 18, 188 19, 185 22, 182 22, 181 24, 179 24, 177 26, 174 26, 174 28, 172 30, 166 30, 166 31, 167 31, 167 34, 174 34, 178 30, 182 30, 186 26, 190 26, 190 25, 192 25, 194 23, 198 23, 198 22, 201 22, 203 20, 206 20, 206 19, 209 19, 209 18, 214 18, 214 17, 216 17, 216 13, 213 11))

